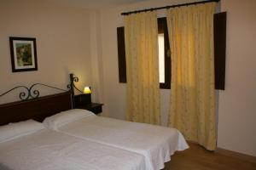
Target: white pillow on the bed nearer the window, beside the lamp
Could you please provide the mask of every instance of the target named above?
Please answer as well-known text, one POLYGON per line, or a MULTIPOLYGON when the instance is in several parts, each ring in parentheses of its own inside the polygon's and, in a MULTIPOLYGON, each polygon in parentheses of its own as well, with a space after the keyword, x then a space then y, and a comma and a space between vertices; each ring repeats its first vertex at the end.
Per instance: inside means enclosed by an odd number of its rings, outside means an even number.
POLYGON ((49 116, 44 119, 44 127, 58 131, 58 127, 61 127, 69 122, 75 122, 85 116, 95 115, 91 111, 82 109, 73 109, 68 111, 61 111, 54 116, 49 116))

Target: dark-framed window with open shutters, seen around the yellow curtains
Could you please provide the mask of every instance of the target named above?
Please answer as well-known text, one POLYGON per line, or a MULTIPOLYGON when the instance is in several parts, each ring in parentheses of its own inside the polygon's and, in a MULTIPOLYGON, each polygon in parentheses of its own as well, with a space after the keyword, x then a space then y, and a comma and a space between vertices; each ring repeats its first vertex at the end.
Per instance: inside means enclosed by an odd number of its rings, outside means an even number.
MULTIPOLYGON (((119 82, 126 82, 125 28, 118 27, 119 82)), ((158 19, 160 88, 171 88, 171 52, 166 18, 158 19)), ((224 89, 226 12, 214 14, 215 89, 224 89)))

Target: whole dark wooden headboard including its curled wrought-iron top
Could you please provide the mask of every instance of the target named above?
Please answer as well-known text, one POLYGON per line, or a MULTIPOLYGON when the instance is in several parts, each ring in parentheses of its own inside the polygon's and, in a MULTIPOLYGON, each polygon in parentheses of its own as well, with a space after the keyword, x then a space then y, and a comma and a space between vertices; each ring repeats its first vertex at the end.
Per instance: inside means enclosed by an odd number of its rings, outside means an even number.
POLYGON ((16 89, 23 89, 19 94, 20 101, 0 105, 0 126, 9 122, 26 121, 27 119, 43 122, 47 116, 72 109, 75 105, 74 90, 79 91, 80 94, 83 94, 83 92, 74 84, 74 82, 79 82, 79 78, 73 74, 70 74, 69 77, 70 84, 67 85, 67 89, 34 83, 30 87, 20 85, 0 94, 0 97, 3 97, 16 89), (40 92, 36 89, 37 86, 55 89, 62 93, 39 97, 40 92))

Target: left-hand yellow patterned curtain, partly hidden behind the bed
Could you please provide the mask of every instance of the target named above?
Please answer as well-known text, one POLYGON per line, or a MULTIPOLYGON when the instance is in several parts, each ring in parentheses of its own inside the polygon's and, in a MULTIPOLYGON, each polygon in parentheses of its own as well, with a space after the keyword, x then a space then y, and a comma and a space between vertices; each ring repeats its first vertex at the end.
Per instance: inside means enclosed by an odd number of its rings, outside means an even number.
POLYGON ((155 12, 125 16, 126 119, 160 124, 158 27, 155 12))

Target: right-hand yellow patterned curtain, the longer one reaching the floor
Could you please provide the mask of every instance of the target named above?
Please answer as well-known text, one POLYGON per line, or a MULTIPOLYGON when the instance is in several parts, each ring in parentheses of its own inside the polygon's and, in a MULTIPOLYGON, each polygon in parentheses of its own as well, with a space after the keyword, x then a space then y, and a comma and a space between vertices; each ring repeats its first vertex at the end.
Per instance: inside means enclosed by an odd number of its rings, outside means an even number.
POLYGON ((213 14, 216 3, 167 10, 172 50, 169 126, 216 149, 213 14))

